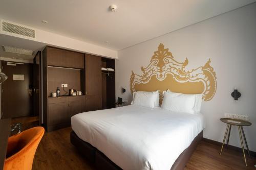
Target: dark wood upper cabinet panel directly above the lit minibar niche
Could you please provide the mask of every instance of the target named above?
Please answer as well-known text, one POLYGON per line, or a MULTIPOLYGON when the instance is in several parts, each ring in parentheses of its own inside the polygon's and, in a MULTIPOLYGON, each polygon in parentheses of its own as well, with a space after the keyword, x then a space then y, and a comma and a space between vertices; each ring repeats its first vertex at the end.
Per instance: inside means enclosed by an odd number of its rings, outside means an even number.
POLYGON ((84 54, 47 47, 48 65, 84 68, 84 54))

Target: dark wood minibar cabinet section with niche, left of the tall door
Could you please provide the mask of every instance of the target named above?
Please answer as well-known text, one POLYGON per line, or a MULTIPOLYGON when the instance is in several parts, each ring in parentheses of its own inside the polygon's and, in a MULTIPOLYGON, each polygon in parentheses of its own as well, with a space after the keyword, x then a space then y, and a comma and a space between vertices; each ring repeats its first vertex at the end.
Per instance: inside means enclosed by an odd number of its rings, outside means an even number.
POLYGON ((84 54, 46 46, 42 57, 44 87, 44 126, 52 131, 71 125, 71 117, 86 111, 86 97, 68 96, 69 89, 85 93, 84 54), (68 84, 62 89, 61 84, 68 84), (51 93, 60 88, 60 97, 51 93), (67 91, 67 92, 66 92, 67 91))

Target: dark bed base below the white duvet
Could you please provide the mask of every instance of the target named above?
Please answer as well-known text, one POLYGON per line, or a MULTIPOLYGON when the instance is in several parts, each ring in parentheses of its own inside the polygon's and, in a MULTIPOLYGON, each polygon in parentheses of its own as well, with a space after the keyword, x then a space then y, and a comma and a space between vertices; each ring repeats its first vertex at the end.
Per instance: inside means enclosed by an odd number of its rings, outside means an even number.
MULTIPOLYGON (((191 142, 189 147, 185 149, 174 162, 170 170, 183 170, 189 161, 193 152, 196 150, 198 143, 203 138, 203 131, 191 142)), ((87 160, 95 163, 97 169, 120 170, 121 168, 106 157, 102 152, 93 147, 90 143, 80 139, 74 131, 70 133, 70 141, 81 152, 87 160)))

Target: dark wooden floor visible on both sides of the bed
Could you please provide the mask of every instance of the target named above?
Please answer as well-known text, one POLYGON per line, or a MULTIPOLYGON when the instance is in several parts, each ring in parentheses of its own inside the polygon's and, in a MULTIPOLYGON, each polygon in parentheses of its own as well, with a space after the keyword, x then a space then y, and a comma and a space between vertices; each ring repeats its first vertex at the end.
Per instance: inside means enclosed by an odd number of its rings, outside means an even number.
MULTIPOLYGON (((95 169, 80 155, 70 143, 71 128, 45 133, 35 154, 32 169, 95 169)), ((224 150, 219 155, 220 147, 201 141, 185 170, 209 169, 253 169, 256 158, 247 159, 245 167, 242 154, 237 151, 224 150)))

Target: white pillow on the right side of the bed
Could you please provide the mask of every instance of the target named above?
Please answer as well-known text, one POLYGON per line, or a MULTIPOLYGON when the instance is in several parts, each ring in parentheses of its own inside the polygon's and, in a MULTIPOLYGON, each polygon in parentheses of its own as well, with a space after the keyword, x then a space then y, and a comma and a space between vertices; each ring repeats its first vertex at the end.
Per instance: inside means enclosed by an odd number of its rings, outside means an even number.
POLYGON ((195 95, 164 92, 162 108, 174 112, 194 114, 195 95))

